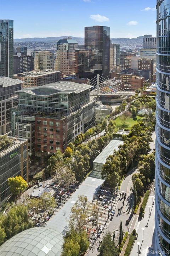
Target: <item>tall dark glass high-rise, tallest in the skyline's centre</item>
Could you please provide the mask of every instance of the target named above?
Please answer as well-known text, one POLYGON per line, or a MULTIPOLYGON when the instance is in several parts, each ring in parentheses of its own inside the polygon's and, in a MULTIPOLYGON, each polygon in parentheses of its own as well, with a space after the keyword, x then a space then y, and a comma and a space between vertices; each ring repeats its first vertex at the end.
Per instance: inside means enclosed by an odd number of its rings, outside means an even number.
POLYGON ((105 26, 85 27, 85 49, 91 50, 91 69, 109 78, 110 28, 105 26))

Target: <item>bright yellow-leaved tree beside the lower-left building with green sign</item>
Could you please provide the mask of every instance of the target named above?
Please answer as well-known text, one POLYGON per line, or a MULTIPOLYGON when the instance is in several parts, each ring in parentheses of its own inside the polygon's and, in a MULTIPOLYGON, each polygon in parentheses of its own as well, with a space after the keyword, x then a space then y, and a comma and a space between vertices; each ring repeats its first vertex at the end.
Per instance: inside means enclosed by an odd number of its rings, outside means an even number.
POLYGON ((21 176, 16 176, 15 178, 8 178, 8 185, 13 195, 20 195, 26 189, 27 181, 21 176))

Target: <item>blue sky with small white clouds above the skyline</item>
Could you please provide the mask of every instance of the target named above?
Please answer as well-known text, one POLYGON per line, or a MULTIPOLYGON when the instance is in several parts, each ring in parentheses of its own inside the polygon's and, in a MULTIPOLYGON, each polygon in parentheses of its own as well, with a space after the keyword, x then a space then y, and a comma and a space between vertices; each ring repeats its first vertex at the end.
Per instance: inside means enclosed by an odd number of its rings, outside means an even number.
POLYGON ((85 26, 109 26, 112 38, 156 32, 156 0, 5 0, 1 19, 14 20, 14 38, 84 37, 85 26))

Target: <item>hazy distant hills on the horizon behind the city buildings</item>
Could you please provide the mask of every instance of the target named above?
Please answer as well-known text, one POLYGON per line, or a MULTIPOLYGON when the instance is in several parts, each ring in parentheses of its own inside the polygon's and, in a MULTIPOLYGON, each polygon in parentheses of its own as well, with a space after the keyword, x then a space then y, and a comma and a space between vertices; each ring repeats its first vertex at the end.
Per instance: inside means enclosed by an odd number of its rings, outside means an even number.
MULTIPOLYGON (((67 38, 67 36, 62 36, 62 37, 33 37, 33 38, 16 38, 14 39, 14 43, 39 43, 39 42, 44 42, 44 43, 56 43, 58 40, 67 38)), ((83 37, 72 37, 77 40, 79 45, 84 44, 84 38, 83 37)), ((123 45, 143 45, 143 36, 137 37, 137 38, 111 38, 112 43, 120 44, 121 46, 123 45)))

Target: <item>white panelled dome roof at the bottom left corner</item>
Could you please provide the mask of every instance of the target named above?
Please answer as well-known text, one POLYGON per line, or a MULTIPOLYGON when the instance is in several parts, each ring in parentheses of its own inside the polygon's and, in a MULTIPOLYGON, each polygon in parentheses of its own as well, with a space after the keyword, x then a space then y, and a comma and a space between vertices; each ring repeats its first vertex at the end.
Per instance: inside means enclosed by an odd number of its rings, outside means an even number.
POLYGON ((63 236, 56 230, 37 227, 24 230, 0 246, 1 256, 60 256, 63 236))

